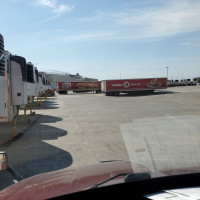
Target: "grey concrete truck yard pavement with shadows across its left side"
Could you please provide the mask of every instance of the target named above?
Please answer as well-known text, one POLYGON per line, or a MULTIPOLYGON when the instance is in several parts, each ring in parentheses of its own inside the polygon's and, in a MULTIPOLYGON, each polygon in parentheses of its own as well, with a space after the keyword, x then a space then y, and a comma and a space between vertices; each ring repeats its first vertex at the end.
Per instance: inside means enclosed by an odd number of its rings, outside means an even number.
POLYGON ((200 166, 200 86, 137 96, 56 94, 34 111, 23 135, 0 146, 22 178, 110 160, 153 170, 200 166))

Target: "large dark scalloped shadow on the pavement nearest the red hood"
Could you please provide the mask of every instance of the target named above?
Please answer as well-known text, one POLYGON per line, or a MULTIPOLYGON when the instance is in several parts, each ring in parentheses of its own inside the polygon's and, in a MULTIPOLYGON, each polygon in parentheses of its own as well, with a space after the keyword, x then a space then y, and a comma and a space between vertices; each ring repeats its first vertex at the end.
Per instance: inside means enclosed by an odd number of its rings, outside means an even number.
POLYGON ((59 117, 40 115, 16 140, 0 146, 6 151, 12 167, 23 178, 69 167, 73 163, 69 152, 56 147, 54 142, 67 131, 42 123, 61 121, 59 117))

